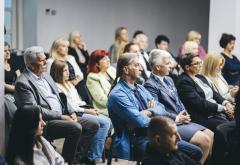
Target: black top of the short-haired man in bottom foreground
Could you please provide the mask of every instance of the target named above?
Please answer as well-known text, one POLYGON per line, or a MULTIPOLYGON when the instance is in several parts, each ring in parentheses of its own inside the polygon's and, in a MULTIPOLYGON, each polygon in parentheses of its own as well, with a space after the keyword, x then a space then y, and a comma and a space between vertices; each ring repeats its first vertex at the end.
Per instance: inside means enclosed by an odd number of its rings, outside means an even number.
POLYGON ((146 157, 142 165, 197 165, 195 160, 180 151, 172 151, 163 155, 151 147, 149 144, 146 149, 146 157))

